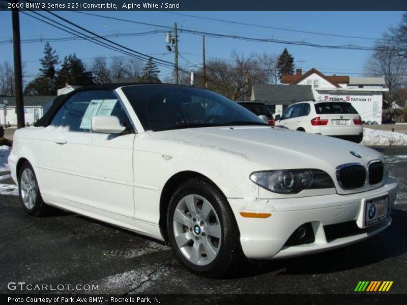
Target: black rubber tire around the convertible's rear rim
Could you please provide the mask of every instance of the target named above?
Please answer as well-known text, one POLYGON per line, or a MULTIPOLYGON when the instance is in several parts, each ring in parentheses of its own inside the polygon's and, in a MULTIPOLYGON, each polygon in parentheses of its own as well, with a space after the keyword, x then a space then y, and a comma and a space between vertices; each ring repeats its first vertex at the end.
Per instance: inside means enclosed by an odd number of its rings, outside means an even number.
POLYGON ((46 205, 44 203, 44 201, 42 200, 40 188, 38 187, 38 181, 37 181, 37 177, 35 175, 34 169, 31 166, 31 164, 28 162, 24 162, 21 165, 20 170, 18 172, 18 193, 19 193, 19 198, 20 198, 22 209, 28 215, 39 217, 39 216, 43 216, 43 215, 47 214, 47 212, 49 211, 49 206, 46 205), (36 197, 35 197, 35 200, 32 201, 32 203, 33 203, 32 206, 30 204, 24 203, 24 199, 23 199, 23 192, 27 192, 27 191, 23 190, 24 186, 22 186, 22 185, 24 185, 24 182, 22 181, 22 179, 24 179, 23 178, 24 171, 27 171, 27 172, 31 171, 33 178, 34 178, 33 179, 34 184, 33 184, 33 187, 31 188, 31 190, 36 192, 36 197))

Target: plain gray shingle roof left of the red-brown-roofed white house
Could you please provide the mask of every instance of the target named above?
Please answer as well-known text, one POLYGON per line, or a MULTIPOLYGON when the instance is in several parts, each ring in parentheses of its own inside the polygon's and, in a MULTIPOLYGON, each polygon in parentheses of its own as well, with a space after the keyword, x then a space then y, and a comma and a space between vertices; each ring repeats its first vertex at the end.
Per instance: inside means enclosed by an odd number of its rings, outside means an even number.
POLYGON ((252 90, 254 100, 267 105, 289 105, 300 101, 314 100, 309 85, 253 85, 252 90))

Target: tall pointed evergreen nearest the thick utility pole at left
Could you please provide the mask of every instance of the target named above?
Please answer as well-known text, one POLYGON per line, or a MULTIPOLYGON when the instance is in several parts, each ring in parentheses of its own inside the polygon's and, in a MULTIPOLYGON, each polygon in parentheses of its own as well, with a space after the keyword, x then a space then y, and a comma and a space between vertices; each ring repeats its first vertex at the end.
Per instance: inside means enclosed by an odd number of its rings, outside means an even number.
POLYGON ((56 68, 59 57, 47 42, 44 47, 44 57, 40 58, 41 74, 32 80, 24 89, 26 95, 54 95, 56 93, 56 68))

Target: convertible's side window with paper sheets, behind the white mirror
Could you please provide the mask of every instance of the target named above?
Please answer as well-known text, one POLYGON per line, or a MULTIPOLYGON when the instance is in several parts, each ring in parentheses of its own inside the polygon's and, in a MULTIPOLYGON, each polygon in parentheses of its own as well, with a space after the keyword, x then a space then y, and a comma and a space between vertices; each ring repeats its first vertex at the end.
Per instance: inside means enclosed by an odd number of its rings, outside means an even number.
POLYGON ((111 91, 89 90, 70 97, 51 120, 53 126, 67 126, 70 131, 90 132, 94 116, 117 116, 122 126, 131 128, 129 118, 111 91))

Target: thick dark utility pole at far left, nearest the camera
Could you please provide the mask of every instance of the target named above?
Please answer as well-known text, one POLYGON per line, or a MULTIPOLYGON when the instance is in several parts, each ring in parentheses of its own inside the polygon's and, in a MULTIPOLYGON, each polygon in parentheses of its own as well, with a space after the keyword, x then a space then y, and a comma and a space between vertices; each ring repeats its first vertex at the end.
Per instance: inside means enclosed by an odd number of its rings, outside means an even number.
MULTIPOLYGON (((18 4, 18 0, 13 1, 18 4)), ((16 6, 17 7, 17 6, 16 6)), ((20 43, 20 20, 18 9, 12 9, 13 23, 13 49, 14 49, 14 88, 16 97, 17 128, 23 128, 24 104, 22 100, 22 71, 21 71, 21 43, 20 43)))

